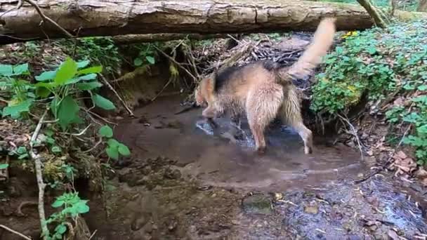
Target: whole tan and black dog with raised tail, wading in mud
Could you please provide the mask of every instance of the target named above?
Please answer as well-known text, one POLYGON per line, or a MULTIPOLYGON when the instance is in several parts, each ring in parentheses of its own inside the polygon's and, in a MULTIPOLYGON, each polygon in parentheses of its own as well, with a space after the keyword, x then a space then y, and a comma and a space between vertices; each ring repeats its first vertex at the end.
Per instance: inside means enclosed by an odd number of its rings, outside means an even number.
POLYGON ((265 151, 265 127, 279 116, 301 136, 304 152, 312 153, 312 132, 303 124, 297 90, 291 79, 306 76, 320 64, 331 47, 335 30, 334 18, 322 20, 313 43, 291 67, 280 67, 272 61, 254 62, 203 79, 195 91, 197 105, 206 107, 202 115, 214 119, 230 112, 239 127, 239 118, 246 113, 258 152, 265 151))

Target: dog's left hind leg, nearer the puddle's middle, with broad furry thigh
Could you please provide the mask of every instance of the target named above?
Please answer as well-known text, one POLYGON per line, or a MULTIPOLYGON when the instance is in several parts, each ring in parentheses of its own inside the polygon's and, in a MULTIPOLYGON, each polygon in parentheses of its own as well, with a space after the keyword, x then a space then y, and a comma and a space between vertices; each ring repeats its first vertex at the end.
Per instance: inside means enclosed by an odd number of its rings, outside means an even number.
POLYGON ((282 86, 277 84, 257 86, 248 93, 247 119, 259 153, 265 152, 265 127, 277 115, 282 101, 282 86))

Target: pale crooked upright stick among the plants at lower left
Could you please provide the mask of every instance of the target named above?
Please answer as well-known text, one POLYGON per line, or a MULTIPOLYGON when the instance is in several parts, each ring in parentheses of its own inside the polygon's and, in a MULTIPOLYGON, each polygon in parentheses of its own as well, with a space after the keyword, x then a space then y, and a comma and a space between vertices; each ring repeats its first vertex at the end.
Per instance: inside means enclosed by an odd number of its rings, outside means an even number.
POLYGON ((37 186, 39 187, 39 218, 41 224, 41 232, 44 234, 44 239, 47 239, 48 227, 46 225, 46 215, 44 214, 44 189, 46 188, 46 183, 43 182, 43 172, 41 171, 41 159, 40 156, 35 154, 33 151, 34 142, 39 135, 41 126, 43 126, 44 117, 48 113, 46 109, 41 115, 39 123, 32 134, 31 140, 29 141, 29 156, 34 160, 34 165, 36 166, 36 177, 37 177, 37 186))

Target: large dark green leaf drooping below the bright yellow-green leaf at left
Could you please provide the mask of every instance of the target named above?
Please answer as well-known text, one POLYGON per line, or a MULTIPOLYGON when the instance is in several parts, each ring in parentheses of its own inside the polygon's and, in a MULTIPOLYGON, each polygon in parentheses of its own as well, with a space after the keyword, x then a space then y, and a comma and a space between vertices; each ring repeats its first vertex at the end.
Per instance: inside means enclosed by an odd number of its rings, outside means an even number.
POLYGON ((77 115, 79 109, 80 107, 77 105, 77 102, 69 95, 60 102, 58 107, 58 123, 63 130, 70 124, 79 123, 79 116, 77 115))

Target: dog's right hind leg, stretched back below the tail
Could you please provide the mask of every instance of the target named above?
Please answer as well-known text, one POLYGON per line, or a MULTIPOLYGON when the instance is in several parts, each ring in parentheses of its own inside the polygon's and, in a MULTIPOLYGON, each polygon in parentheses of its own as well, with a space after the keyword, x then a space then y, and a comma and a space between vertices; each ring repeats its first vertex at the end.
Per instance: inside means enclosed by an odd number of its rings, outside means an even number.
POLYGON ((303 123, 301 107, 294 85, 289 84, 284 89, 284 101, 280 109, 280 117, 284 124, 295 129, 304 141, 304 153, 313 152, 313 133, 303 123))

